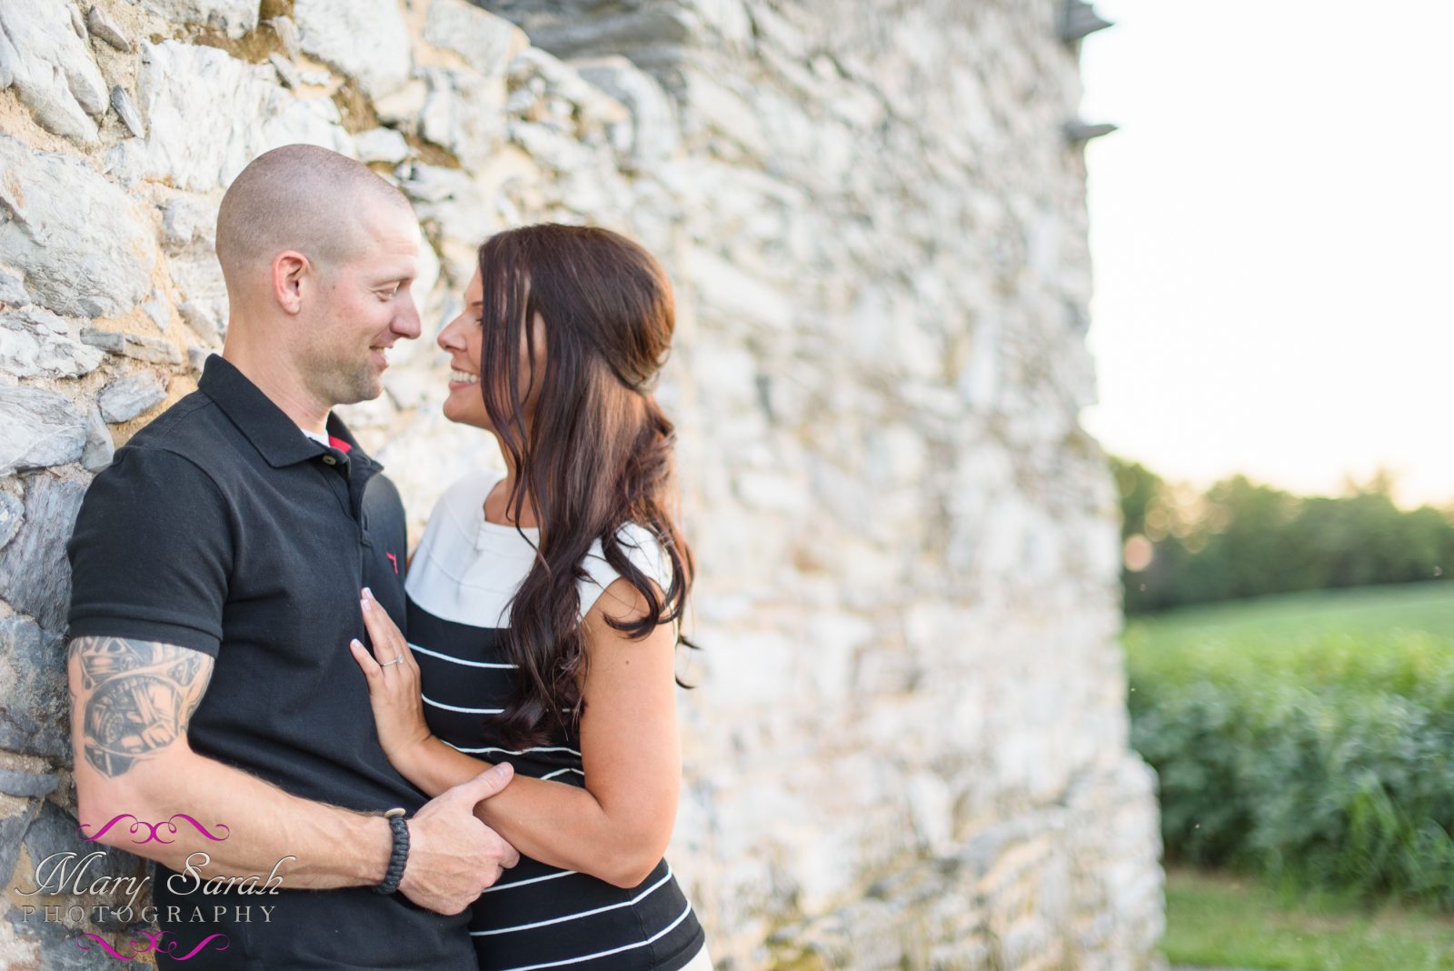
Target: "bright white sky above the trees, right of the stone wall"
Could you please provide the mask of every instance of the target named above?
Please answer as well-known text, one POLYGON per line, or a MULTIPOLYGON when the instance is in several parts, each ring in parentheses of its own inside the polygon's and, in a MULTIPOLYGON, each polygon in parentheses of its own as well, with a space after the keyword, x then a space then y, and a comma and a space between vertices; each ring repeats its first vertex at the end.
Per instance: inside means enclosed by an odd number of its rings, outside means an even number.
POLYGON ((1118 455, 1454 501, 1454 0, 1099 0, 1082 116, 1118 455))

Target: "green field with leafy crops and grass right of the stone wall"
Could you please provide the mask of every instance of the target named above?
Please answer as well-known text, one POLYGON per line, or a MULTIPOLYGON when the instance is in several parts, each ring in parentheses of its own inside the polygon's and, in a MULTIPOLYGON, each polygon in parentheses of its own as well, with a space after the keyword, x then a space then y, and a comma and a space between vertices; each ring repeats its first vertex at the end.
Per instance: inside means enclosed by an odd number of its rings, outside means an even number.
POLYGON ((1173 962, 1454 970, 1454 583, 1188 608, 1124 641, 1173 962))

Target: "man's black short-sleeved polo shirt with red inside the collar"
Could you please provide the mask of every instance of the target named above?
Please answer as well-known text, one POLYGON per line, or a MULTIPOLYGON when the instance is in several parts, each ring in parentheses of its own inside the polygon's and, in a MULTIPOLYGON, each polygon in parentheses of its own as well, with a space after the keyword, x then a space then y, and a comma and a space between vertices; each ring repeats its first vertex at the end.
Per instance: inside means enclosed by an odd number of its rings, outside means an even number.
MULTIPOLYGON (((404 624, 404 510, 336 417, 329 436, 329 446, 310 439, 237 368, 209 358, 198 391, 118 449, 87 490, 67 547, 70 635, 212 656, 188 734, 196 752, 307 799, 413 811, 426 798, 384 757, 348 647, 368 642, 364 586, 404 624)), ((211 821, 234 839, 266 824, 243 807, 211 821)), ((188 968, 477 967, 467 913, 445 917, 403 894, 204 898, 169 893, 167 877, 158 865, 154 895, 176 954, 209 933, 230 939, 188 968), (198 904, 204 922, 192 920, 198 904), (250 922, 237 920, 234 907, 246 904, 250 922), (259 904, 273 906, 266 923, 259 904), (169 920, 169 906, 180 907, 180 922, 169 920), (214 920, 215 906, 228 914, 214 920)))

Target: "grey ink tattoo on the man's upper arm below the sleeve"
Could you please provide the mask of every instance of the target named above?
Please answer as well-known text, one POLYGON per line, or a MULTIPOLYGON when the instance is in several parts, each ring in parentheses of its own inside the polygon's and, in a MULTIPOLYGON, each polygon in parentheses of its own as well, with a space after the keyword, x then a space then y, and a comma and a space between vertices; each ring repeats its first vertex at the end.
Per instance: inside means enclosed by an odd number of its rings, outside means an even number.
POLYGON ((71 656, 86 762, 111 778, 186 736, 212 673, 199 651, 121 637, 79 637, 71 656))

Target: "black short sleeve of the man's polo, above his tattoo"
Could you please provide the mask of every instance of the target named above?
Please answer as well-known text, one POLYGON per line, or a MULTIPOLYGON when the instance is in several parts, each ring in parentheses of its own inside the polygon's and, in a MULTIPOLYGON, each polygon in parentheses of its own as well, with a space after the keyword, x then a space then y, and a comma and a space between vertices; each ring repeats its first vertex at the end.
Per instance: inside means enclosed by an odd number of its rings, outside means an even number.
POLYGON ((217 656, 233 532, 217 484, 190 461, 121 449, 86 490, 65 552, 73 638, 125 637, 217 656))

